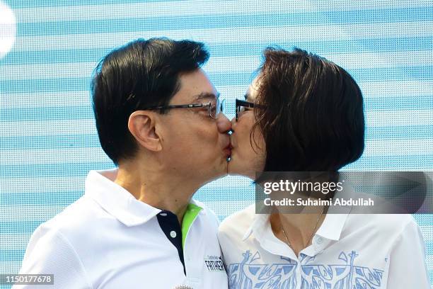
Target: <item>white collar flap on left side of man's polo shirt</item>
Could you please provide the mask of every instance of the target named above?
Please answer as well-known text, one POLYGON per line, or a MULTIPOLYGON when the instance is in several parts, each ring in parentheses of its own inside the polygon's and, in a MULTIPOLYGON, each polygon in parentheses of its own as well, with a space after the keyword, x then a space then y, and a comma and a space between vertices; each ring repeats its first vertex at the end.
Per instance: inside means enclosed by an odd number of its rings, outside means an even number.
POLYGON ((142 225, 161 212, 160 209, 137 200, 125 188, 105 178, 98 171, 88 173, 85 196, 95 200, 127 227, 142 225))

